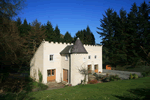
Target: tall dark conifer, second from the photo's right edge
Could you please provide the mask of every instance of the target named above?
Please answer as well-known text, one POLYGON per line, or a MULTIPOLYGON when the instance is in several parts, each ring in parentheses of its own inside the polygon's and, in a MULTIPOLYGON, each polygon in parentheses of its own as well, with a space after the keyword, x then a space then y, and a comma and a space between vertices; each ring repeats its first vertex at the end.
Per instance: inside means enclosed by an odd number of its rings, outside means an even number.
POLYGON ((138 20, 137 20, 137 15, 138 15, 138 9, 136 6, 136 3, 134 3, 131 7, 131 12, 128 14, 128 21, 127 21, 127 33, 128 33, 128 43, 127 43, 127 59, 128 59, 128 64, 136 66, 140 62, 140 57, 137 55, 137 48, 138 47, 138 34, 137 34, 137 29, 138 29, 138 20))

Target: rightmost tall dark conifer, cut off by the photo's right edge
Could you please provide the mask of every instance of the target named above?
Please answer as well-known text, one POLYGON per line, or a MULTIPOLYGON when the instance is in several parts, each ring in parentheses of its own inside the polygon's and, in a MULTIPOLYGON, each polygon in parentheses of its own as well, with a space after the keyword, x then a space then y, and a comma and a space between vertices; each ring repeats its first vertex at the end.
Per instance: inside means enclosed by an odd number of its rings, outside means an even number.
MULTIPOLYGON (((147 63, 150 62, 150 6, 148 6, 145 1, 140 5, 138 12, 138 35, 140 38, 139 45, 140 50, 138 50, 139 56, 142 60, 147 63)), ((150 65, 150 63, 149 63, 150 65)))

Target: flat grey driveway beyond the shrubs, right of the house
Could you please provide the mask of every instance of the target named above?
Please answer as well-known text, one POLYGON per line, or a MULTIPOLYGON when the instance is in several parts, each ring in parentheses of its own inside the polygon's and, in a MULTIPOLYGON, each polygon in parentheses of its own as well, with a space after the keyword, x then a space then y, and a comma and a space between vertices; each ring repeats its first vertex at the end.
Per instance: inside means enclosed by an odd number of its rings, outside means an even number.
POLYGON ((137 74, 139 77, 142 77, 140 72, 129 72, 129 71, 119 71, 119 70, 106 70, 103 69, 103 73, 108 73, 109 75, 119 75, 121 79, 129 79, 129 75, 131 74, 137 74))

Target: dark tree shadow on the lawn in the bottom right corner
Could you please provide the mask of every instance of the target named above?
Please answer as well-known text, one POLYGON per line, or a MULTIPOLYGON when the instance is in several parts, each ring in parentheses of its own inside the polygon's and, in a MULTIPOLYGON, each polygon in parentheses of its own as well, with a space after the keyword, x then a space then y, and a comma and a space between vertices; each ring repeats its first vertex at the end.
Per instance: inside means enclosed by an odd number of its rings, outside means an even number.
POLYGON ((150 100, 150 88, 138 88, 138 89, 130 89, 128 90, 131 94, 135 95, 133 97, 132 96, 127 96, 127 95, 123 95, 123 96, 117 96, 117 95, 113 95, 117 98, 119 98, 120 100, 150 100))

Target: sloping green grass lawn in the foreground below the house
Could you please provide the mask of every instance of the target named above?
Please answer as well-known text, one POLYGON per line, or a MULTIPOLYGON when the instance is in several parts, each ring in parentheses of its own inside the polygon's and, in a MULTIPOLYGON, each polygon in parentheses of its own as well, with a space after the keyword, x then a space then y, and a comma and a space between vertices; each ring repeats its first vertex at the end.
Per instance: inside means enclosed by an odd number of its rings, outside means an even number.
POLYGON ((149 93, 150 77, 143 77, 31 92, 25 100, 148 100, 149 93))

